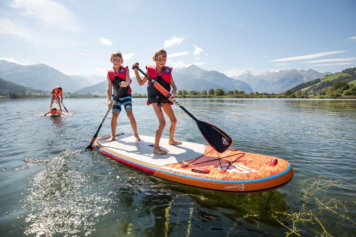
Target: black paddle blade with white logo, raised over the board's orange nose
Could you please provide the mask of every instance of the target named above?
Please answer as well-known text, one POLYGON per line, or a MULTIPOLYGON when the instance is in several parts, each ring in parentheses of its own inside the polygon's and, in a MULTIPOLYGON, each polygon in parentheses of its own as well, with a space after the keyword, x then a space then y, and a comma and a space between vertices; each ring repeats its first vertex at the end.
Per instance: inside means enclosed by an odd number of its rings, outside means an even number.
POLYGON ((230 147, 232 139, 223 130, 213 124, 200 120, 197 120, 196 122, 201 135, 203 135, 206 142, 208 142, 215 151, 223 153, 230 147))

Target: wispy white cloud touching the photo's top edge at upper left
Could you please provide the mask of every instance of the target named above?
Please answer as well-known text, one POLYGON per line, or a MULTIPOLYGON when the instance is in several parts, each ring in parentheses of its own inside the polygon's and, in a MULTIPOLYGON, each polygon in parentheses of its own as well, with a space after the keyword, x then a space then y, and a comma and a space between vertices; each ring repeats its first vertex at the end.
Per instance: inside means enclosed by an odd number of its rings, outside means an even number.
MULTIPOLYGON (((77 17, 58 2, 49 0, 14 0, 10 7, 19 9, 17 14, 32 17, 44 25, 66 31, 78 32, 77 17)), ((24 19, 26 20, 26 19, 24 19)))

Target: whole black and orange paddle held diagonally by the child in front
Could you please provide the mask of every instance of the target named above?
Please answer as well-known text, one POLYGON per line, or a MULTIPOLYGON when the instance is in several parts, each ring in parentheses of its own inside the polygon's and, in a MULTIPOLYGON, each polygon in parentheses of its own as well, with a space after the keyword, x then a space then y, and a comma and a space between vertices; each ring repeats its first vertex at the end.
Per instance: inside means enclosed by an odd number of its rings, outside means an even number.
POLYGON ((139 67, 133 66, 132 69, 137 69, 140 71, 147 79, 153 84, 153 86, 161 92, 164 96, 166 96, 169 99, 172 99, 172 101, 177 104, 185 113, 187 113, 194 121, 197 123, 198 128, 200 130, 201 135, 203 135, 204 139, 206 142, 209 143, 213 149, 219 153, 223 153, 228 149, 232 143, 232 139, 230 138, 229 135, 227 135, 223 130, 218 128, 217 126, 203 122, 201 120, 198 120, 193 116, 193 114, 189 113, 187 109, 185 109, 181 104, 179 104, 174 97, 171 98, 171 94, 163 87, 161 86, 157 81, 153 80, 152 77, 148 76, 145 72, 143 72, 139 67))

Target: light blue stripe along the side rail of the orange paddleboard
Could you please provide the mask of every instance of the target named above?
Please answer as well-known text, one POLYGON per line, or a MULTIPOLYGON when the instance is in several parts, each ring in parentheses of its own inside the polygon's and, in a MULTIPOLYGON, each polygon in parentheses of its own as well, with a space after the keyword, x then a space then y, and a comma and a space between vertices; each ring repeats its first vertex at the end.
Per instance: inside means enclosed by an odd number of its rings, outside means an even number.
MULTIPOLYGON (((255 180, 239 180, 239 181, 216 180, 216 179, 208 179, 208 178, 201 178, 201 177, 195 177, 195 176, 187 176, 187 175, 184 175, 184 174, 177 174, 177 173, 173 173, 173 172, 170 172, 170 171, 166 171, 164 169, 157 169, 157 168, 154 168, 154 167, 151 167, 151 166, 146 166, 146 165, 143 165, 141 163, 137 163, 135 161, 128 160, 128 159, 125 159, 124 157, 118 156, 117 153, 114 154, 112 152, 105 151, 105 150, 101 149, 100 147, 96 146, 95 144, 94 144, 94 146, 95 146, 96 149, 98 149, 98 150, 100 150, 102 152, 109 153, 110 155, 115 156, 117 158, 120 158, 121 160, 125 160, 127 162, 134 163, 135 165, 138 165, 138 166, 141 166, 141 167, 144 167, 144 168, 147 168, 147 169, 152 169, 154 171, 159 171, 159 172, 162 172, 162 173, 166 173, 166 174, 170 174, 170 175, 174 175, 174 176, 179 176, 179 177, 182 177, 182 178, 197 179, 197 180, 206 181, 206 182, 231 183, 231 184, 262 182, 262 181, 266 181, 266 180, 269 180, 269 179, 274 179, 274 178, 277 178, 279 176, 282 176, 282 175, 288 173, 290 168, 291 168, 290 163, 288 162, 288 167, 287 167, 287 169, 285 171, 283 171, 283 172, 281 172, 279 174, 275 174, 273 176, 266 177, 266 178, 260 178, 260 179, 255 179, 255 180)), ((171 181, 171 182, 174 182, 174 181, 171 181)))

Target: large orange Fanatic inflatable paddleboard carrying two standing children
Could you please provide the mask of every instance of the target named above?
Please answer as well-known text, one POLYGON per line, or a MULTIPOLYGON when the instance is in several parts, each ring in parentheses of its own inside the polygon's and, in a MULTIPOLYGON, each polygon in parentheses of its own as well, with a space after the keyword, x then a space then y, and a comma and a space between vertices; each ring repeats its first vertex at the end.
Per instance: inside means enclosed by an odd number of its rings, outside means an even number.
POLYGON ((155 138, 116 134, 96 139, 93 149, 105 156, 146 174, 193 188, 227 193, 258 193, 277 189, 293 178, 293 168, 287 161, 273 156, 227 149, 217 153, 211 146, 183 141, 168 145, 161 138, 161 149, 168 153, 153 153, 155 138))

